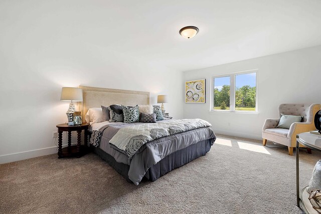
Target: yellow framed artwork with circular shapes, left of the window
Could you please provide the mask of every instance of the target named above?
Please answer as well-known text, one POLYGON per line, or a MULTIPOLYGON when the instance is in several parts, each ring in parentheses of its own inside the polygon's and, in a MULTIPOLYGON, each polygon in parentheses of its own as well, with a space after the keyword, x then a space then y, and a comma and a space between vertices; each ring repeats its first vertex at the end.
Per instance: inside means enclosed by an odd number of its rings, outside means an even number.
POLYGON ((205 103, 205 79, 185 82, 185 102, 205 103))

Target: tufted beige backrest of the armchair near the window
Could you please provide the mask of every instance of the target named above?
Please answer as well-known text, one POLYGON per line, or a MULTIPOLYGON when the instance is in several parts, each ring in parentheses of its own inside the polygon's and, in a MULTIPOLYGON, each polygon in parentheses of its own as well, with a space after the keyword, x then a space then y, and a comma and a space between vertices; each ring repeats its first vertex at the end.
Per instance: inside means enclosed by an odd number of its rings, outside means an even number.
POLYGON ((303 117, 301 122, 313 121, 315 113, 320 110, 320 104, 281 104, 279 105, 279 115, 295 115, 303 117))

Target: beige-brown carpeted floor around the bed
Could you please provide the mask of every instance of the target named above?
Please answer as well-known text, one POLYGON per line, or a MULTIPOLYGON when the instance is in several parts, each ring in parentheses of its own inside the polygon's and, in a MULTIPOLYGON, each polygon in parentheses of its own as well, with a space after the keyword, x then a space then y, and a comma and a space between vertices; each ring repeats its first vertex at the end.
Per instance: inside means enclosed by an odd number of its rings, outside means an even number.
MULTIPOLYGON (((206 156, 138 186, 92 153, 2 164, 0 213, 302 213, 287 147, 218 137, 206 156)), ((301 187, 320 155, 300 150, 301 187)))

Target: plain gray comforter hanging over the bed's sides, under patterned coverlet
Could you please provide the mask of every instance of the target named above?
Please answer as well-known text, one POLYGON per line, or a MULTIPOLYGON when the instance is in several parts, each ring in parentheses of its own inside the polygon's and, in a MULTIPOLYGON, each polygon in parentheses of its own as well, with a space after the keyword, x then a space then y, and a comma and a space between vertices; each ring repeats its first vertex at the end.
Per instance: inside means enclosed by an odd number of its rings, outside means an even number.
MULTIPOLYGON (((162 123, 166 121, 157 121, 162 123)), ((173 152, 186 148, 189 145, 195 144, 201 140, 212 139, 214 143, 216 136, 211 127, 197 128, 173 135, 154 139, 150 142, 143 144, 132 157, 117 148, 116 146, 109 143, 112 137, 124 127, 135 126, 141 123, 115 123, 108 124, 100 129, 101 139, 100 142, 94 142, 93 136, 91 143, 99 143, 99 147, 113 156, 117 162, 129 165, 128 177, 129 179, 138 185, 146 171, 155 163, 162 160, 173 152)), ((99 132, 93 131, 93 134, 99 134, 99 132)))

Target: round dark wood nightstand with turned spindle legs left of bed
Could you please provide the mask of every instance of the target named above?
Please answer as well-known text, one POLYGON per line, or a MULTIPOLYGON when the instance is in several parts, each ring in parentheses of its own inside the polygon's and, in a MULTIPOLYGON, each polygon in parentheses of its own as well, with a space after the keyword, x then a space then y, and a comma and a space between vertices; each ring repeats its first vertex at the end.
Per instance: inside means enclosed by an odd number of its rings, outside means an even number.
POLYGON ((69 126, 66 123, 59 124, 56 127, 58 128, 58 158, 63 157, 81 157, 88 150, 88 128, 89 123, 82 123, 78 126, 69 126), (81 146, 81 132, 85 131, 85 145, 81 146), (68 132, 68 146, 62 148, 62 133, 64 131, 68 132), (77 131, 77 145, 71 146, 71 132, 77 131))

